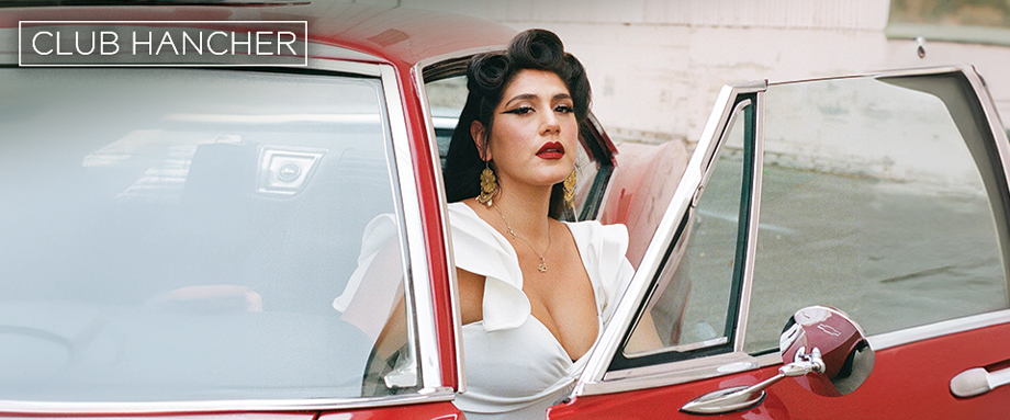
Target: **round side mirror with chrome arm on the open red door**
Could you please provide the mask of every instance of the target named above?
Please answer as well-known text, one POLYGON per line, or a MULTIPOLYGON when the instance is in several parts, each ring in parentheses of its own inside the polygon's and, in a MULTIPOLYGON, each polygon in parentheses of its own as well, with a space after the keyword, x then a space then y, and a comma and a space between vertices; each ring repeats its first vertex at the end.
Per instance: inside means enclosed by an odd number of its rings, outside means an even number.
POLYGON ((764 400, 765 388, 795 377, 813 394, 840 397, 869 376, 874 355, 855 321, 841 310, 810 306, 796 311, 778 339, 783 366, 778 374, 751 386, 719 389, 684 405, 681 411, 718 415, 745 410, 764 400))

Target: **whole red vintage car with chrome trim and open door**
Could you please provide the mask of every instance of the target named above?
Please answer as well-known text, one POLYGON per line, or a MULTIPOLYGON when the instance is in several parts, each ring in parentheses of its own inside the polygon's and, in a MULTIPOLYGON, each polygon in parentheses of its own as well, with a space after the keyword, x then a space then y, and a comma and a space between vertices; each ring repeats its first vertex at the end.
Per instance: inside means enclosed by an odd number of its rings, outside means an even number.
MULTIPOLYGON (((513 35, 356 4, 0 10, 0 418, 461 418, 439 156, 468 58, 513 35), (307 65, 19 66, 27 21, 304 21, 307 65)), ((637 272, 546 418, 1010 411, 1010 144, 972 67, 726 87, 689 161, 581 135, 571 217, 628 225, 637 272), (647 311, 663 347, 626 351, 647 311)))

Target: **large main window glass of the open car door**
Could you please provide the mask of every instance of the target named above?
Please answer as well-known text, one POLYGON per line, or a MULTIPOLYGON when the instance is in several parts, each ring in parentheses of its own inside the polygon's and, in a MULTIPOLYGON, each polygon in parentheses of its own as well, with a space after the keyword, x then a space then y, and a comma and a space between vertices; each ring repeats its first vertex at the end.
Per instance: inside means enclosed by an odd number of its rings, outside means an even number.
POLYGON ((771 86, 744 350, 820 304, 868 334, 1002 309, 1002 171, 953 76, 771 86), (994 162, 997 162, 994 164, 994 162))

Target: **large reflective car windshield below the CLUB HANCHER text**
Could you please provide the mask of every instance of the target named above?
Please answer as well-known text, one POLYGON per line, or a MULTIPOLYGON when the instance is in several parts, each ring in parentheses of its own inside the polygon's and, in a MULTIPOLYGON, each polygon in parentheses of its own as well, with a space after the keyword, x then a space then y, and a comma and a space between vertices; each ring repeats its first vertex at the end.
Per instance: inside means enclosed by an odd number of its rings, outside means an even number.
POLYGON ((379 79, 2 68, 0 138, 0 400, 416 386, 379 79))

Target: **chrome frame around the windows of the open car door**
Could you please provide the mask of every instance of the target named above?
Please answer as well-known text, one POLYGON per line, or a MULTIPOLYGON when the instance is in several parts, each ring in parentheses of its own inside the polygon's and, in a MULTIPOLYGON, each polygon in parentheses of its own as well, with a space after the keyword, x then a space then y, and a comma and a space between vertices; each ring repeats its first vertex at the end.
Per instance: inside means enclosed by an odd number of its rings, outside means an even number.
MULTIPOLYGON (((932 75, 942 72, 958 71, 966 77, 970 88, 978 97, 984 116, 988 121, 989 132, 994 136, 996 149, 998 150, 999 164, 1003 169, 1007 178, 1007 185, 1010 185, 1010 143, 1008 134, 1003 130, 1000 117, 992 102, 992 97, 986 87, 985 81, 969 65, 934 67, 921 69, 899 69, 891 71, 880 71, 865 75, 855 75, 850 77, 817 78, 806 80, 795 80, 787 83, 806 82, 826 79, 845 79, 855 77, 895 77, 895 76, 917 76, 932 75)), ((613 394, 627 390, 636 390, 659 386, 676 385, 709 377, 725 376, 738 372, 751 371, 760 367, 773 366, 782 363, 782 357, 777 353, 763 354, 753 356, 743 352, 745 340, 747 320, 750 311, 750 295, 753 287, 753 262, 756 258, 756 241, 749 240, 747 247, 747 259, 744 261, 743 284, 741 290, 741 300, 737 319, 737 337, 734 341, 734 351, 698 359, 659 363, 649 366, 637 367, 632 370, 607 372, 610 361, 619 350, 621 339, 625 333, 633 326, 636 315, 641 300, 646 297, 650 283, 661 269, 659 262, 663 252, 671 246, 674 239, 673 235, 681 219, 686 214, 688 207, 693 205, 694 200, 699 195, 704 188, 703 177, 716 155, 715 148, 718 146, 717 133, 721 132, 729 123, 731 106, 740 94, 756 93, 756 114, 755 114, 755 145, 754 145, 754 177, 752 182, 751 216, 748 226, 748 235, 754 238, 758 225, 760 223, 761 209, 761 183, 762 171, 764 168, 764 94, 768 86, 784 84, 786 82, 768 83, 767 81, 745 83, 738 86, 726 86, 719 93, 712 115, 703 132, 698 141, 698 149, 705 150, 704 154, 695 152, 688 162, 687 170, 681 181, 681 185, 674 193, 673 200, 667 207, 666 214, 660 224, 653 241, 649 245, 642 259, 642 265, 636 272, 629 285, 628 292, 618 304, 614 316, 610 319, 610 326, 604 331, 598 348, 591 354, 591 359, 585 371, 580 376, 574 396, 591 396, 613 394), (721 110, 721 113, 719 111, 721 110)), ((1010 218, 1010 212, 1007 215, 1010 218)), ((1010 247, 1010 243, 1001 243, 1003 247, 1010 247)), ((1006 252, 1005 252, 1006 254, 1006 252)), ((1005 262, 1010 270, 1010 262, 1005 262)), ((1008 275, 1010 283, 1010 275, 1008 275)), ((1010 286, 1008 286, 1010 294, 1010 286)), ((1010 296, 1008 296, 1010 299, 1010 296)), ((1010 309, 1000 309, 990 313, 983 313, 962 318, 949 319, 921 327, 906 328, 897 331, 880 333, 868 337, 871 347, 874 350, 884 350, 917 341, 928 340, 936 337, 964 332, 973 329, 991 327, 997 325, 1010 323, 1010 309)))

